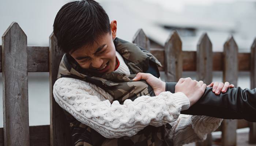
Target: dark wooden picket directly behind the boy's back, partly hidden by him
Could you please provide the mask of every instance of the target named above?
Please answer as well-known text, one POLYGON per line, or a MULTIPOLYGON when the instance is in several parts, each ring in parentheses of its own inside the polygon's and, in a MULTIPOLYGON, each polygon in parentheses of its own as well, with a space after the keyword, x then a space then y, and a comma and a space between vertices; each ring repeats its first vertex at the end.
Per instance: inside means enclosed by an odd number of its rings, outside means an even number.
POLYGON ((71 146, 69 123, 63 109, 55 102, 52 92, 62 56, 63 52, 57 46, 56 37, 52 33, 49 37, 50 146, 71 146))

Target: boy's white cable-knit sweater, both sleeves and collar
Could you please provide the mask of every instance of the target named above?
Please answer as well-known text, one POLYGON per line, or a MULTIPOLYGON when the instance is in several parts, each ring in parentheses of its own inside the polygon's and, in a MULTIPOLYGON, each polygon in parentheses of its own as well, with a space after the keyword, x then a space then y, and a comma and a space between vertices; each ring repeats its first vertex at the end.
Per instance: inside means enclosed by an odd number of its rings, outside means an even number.
MULTIPOLYGON (((121 55, 116 56, 120 62, 117 70, 129 73, 121 55)), ((166 137, 173 138, 174 145, 181 145, 206 138, 222 121, 207 116, 181 116, 180 111, 189 108, 189 100, 181 92, 141 96, 134 101, 127 99, 121 105, 94 84, 63 77, 55 82, 53 95, 60 107, 106 138, 131 137, 148 125, 171 123, 173 128, 167 130, 166 137)))

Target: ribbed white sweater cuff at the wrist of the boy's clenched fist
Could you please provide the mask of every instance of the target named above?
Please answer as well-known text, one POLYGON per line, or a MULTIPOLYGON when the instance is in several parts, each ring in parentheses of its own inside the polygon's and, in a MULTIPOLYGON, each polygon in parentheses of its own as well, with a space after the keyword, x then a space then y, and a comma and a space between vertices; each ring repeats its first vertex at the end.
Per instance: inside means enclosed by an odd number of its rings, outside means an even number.
POLYGON ((190 101, 188 97, 182 92, 177 92, 174 95, 174 100, 176 100, 176 102, 181 105, 181 111, 188 110, 190 107, 190 101))

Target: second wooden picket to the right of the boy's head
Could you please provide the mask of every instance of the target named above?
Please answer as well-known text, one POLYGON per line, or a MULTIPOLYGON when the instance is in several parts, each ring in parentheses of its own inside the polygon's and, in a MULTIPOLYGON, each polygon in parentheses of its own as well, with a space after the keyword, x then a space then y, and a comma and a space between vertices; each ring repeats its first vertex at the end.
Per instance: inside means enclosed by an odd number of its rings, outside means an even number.
POLYGON ((177 31, 165 42, 165 81, 177 82, 182 76, 182 43, 177 31))

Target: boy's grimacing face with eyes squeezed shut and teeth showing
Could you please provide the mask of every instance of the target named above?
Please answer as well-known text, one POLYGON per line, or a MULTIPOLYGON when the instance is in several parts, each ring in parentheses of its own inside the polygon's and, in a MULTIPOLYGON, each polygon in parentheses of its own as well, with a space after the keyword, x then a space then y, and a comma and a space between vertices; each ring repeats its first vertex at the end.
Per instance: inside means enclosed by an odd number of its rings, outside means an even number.
POLYGON ((93 45, 85 45, 69 53, 83 69, 110 73, 116 66, 116 49, 111 33, 102 35, 93 45))

